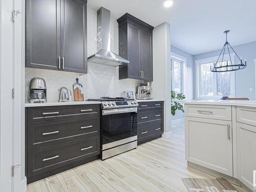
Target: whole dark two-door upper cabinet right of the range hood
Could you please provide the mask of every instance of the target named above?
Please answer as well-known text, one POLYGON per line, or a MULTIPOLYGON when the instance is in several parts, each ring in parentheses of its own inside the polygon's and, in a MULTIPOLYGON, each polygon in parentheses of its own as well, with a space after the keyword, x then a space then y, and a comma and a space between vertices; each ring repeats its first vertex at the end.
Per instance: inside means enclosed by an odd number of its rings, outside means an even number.
POLYGON ((153 81, 154 27, 126 13, 119 19, 119 55, 130 61, 119 66, 119 79, 153 81))

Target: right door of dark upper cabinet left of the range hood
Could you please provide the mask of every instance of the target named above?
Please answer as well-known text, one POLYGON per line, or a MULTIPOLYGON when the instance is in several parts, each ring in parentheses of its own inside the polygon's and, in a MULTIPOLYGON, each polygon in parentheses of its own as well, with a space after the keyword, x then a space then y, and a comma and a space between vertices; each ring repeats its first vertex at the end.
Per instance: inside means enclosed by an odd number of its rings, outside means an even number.
POLYGON ((61 0, 61 68, 87 73, 87 3, 61 0))

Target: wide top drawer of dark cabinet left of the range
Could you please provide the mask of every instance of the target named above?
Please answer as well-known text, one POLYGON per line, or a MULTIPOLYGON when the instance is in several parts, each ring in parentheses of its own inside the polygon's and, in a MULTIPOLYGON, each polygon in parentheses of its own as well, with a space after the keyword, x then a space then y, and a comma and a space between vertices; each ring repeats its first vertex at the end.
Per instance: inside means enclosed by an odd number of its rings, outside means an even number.
POLYGON ((65 119, 69 117, 84 117, 99 114, 100 104, 39 106, 28 108, 28 122, 65 119))

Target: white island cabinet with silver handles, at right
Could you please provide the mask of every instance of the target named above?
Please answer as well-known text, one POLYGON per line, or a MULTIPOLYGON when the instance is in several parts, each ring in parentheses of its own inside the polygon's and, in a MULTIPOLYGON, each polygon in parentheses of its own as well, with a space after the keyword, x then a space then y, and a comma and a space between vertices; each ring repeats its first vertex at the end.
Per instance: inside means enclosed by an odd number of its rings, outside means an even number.
POLYGON ((256 101, 186 101, 185 154, 188 165, 255 189, 256 101))

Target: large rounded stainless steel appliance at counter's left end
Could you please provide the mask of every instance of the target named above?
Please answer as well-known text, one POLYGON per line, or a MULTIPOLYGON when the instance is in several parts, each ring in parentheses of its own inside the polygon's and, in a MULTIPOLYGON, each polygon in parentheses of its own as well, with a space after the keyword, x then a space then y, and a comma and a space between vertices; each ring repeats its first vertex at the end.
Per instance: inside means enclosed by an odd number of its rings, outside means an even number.
POLYGON ((47 102, 46 81, 43 78, 35 77, 29 84, 29 102, 47 102))

